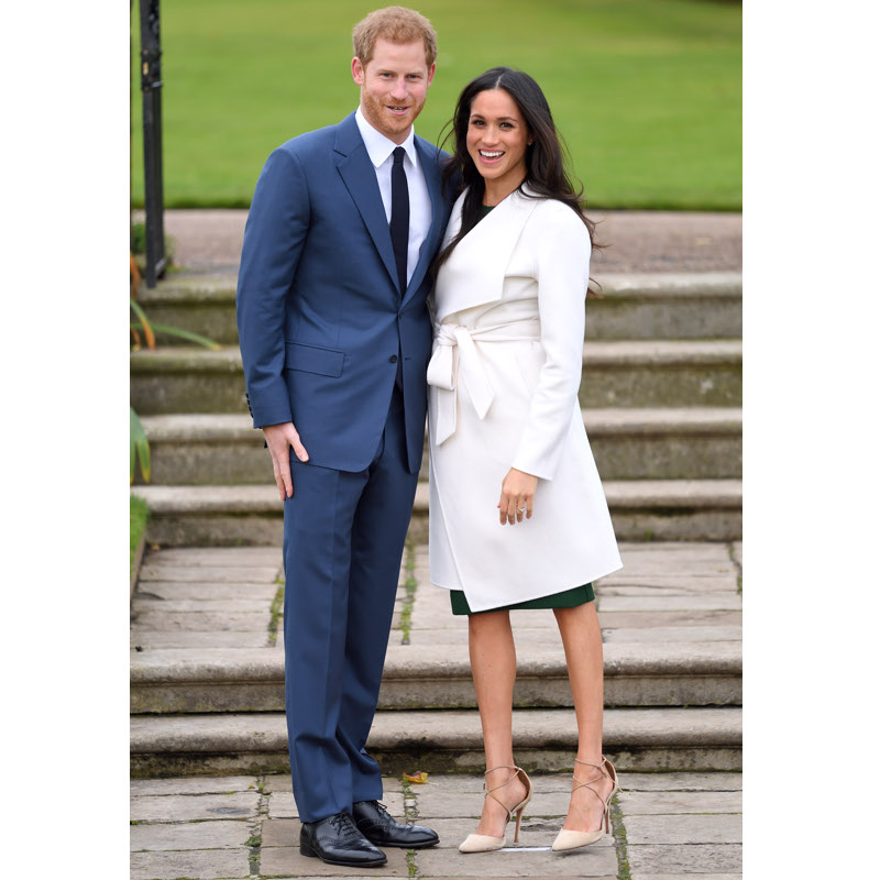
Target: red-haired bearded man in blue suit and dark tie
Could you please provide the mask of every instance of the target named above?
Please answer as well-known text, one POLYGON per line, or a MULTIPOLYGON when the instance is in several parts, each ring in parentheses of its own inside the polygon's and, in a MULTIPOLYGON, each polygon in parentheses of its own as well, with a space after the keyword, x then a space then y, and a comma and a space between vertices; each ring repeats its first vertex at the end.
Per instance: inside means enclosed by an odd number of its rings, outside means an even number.
POLYGON ((433 78, 430 22, 400 7, 354 29, 360 107, 268 157, 239 273, 254 427, 284 501, 285 692, 300 851, 386 861, 432 846, 395 822, 365 744, 421 463, 429 265, 449 218, 446 154, 413 123, 433 78))

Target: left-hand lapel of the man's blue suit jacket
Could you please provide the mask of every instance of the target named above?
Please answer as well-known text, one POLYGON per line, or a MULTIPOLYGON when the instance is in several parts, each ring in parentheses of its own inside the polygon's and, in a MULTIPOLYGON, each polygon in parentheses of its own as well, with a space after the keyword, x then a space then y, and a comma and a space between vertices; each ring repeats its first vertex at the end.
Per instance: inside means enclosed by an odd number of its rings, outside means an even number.
POLYGON ((338 154, 337 168, 363 218, 373 244, 397 288, 397 266, 394 262, 394 248, 378 191, 376 169, 370 161, 354 113, 345 117, 337 127, 333 150, 338 154))

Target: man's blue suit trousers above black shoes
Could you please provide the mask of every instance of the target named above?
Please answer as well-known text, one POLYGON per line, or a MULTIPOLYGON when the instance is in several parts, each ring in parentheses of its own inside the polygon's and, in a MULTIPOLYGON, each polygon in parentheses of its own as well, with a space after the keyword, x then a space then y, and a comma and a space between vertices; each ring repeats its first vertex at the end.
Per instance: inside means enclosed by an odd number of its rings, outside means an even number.
POLYGON ((288 747, 300 820, 382 798, 366 752, 418 474, 407 468, 400 391, 370 465, 300 462, 284 506, 288 747))

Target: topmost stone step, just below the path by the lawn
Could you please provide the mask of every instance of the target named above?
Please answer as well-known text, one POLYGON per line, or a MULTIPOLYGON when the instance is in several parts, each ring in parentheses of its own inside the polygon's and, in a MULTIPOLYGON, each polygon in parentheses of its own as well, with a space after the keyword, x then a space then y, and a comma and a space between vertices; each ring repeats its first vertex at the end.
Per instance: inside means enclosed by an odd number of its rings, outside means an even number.
MULTIPOLYGON (((743 336, 743 276, 733 272, 597 275, 602 298, 586 306, 587 339, 723 339, 743 336)), ((175 275, 142 288, 156 323, 238 344, 234 273, 175 275)), ((173 337, 161 338, 175 344, 173 337)))

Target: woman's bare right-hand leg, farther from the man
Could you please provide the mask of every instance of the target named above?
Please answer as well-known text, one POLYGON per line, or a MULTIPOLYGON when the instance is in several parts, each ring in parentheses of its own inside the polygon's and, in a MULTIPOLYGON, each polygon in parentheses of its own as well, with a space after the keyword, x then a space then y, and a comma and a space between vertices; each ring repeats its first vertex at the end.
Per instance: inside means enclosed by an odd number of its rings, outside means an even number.
MULTIPOLYGON (((574 608, 556 608, 553 613, 565 649, 569 682, 574 697, 578 719, 578 758, 592 765, 602 765, 602 710, 603 675, 602 632, 596 616, 596 603, 585 602, 574 608)), ((591 787, 603 799, 612 790, 612 782, 600 777, 593 767, 574 765, 574 774, 587 782, 598 777, 591 787)), ((574 782, 572 781, 572 787, 574 782)), ((603 807, 600 799, 586 789, 572 793, 569 814, 563 828, 576 832, 595 831, 602 824, 603 807)))

